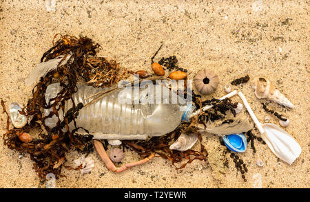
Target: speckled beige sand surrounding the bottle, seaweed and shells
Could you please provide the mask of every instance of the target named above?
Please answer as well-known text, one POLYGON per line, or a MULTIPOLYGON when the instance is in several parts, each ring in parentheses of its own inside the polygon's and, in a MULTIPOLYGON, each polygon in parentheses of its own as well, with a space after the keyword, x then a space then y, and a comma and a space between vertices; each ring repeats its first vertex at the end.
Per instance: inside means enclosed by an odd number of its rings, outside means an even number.
MULTIPOLYGON (((107 170, 96 154, 90 174, 63 170, 66 178, 56 181, 57 188, 309 188, 309 2, 287 1, 56 1, 56 11, 48 12, 46 1, 7 1, 0 3, 0 99, 25 104, 31 87, 24 80, 52 45, 54 34, 88 36, 102 45, 100 54, 115 59, 123 67, 151 71, 149 58, 164 43, 161 56, 176 55, 180 67, 193 73, 213 69, 220 78, 211 96, 225 95, 224 85, 249 74, 267 76, 296 105, 288 110, 269 104, 291 120, 285 128, 302 147, 292 166, 277 160, 266 145, 257 142, 240 155, 248 165, 247 182, 237 174, 228 157, 223 167, 223 147, 218 137, 204 135, 209 161, 194 161, 175 170, 170 161, 154 158, 148 164, 121 174, 107 170), (265 166, 258 168, 260 157, 265 166), (211 165, 211 166, 210 166, 211 165), (223 167, 223 168, 222 168, 223 167), (223 174, 221 174, 223 173, 223 174)), ((267 113, 249 86, 242 90, 262 122, 267 113)), ((240 99, 238 97, 233 100, 240 99)), ((2 112, 2 109, 0 110, 2 112)), ((245 111, 242 115, 247 115, 245 111)), ((0 134, 5 131, 6 115, 0 114, 0 134)), ((278 120, 271 116, 271 122, 278 120)), ((256 131, 258 135, 258 131, 256 131)), ((0 187, 44 188, 32 170, 29 155, 21 156, 3 146, 0 140, 0 187)), ((196 148, 198 148, 196 146, 196 148)), ((80 155, 70 153, 67 165, 80 155)), ((125 162, 138 159, 127 152, 125 162)))

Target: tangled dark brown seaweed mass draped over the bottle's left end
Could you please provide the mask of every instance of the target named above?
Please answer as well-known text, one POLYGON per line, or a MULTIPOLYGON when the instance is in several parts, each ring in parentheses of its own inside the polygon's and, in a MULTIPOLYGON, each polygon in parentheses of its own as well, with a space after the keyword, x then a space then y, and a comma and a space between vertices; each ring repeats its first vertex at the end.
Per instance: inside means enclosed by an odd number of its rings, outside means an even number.
MULTIPOLYGON (((57 36, 59 34, 56 34, 54 39, 57 36)), ((87 37, 76 38, 65 35, 56 42, 53 40, 53 47, 43 54, 41 63, 63 55, 61 62, 66 59, 67 63, 59 63, 54 71, 41 77, 32 89, 32 98, 21 112, 31 117, 26 126, 10 129, 8 116, 7 132, 3 135, 4 144, 21 153, 29 153, 30 158, 34 161, 34 169, 37 170, 41 178, 45 178, 45 175, 50 172, 54 173, 56 177, 60 177, 61 168, 66 161, 65 153, 68 153, 69 150, 78 150, 82 153, 90 153, 93 150, 92 135, 79 135, 76 133, 79 128, 75 128, 71 132, 69 130, 70 122, 74 122, 74 126, 76 126, 74 119, 83 107, 83 104, 74 103, 72 100, 72 94, 77 91, 76 83, 82 81, 94 87, 110 87, 127 77, 127 71, 121 69, 116 61, 109 62, 103 57, 96 56, 99 47, 99 44, 87 37), (56 98, 46 103, 46 88, 55 80, 60 82, 63 89, 56 98), (72 100, 73 107, 65 113, 64 120, 61 122, 59 110, 64 109, 65 101, 69 99, 72 100), (52 109, 52 111, 49 115, 44 116, 42 109, 52 109), (58 122, 54 128, 49 128, 45 126, 44 121, 52 115, 58 117, 58 122), (43 128, 39 138, 34 138, 30 143, 21 142, 18 135, 29 132, 33 128, 43 128), (47 134, 44 134, 44 130, 47 134)), ((1 105, 3 111, 6 112, 3 101, 1 101, 1 105)), ((67 168, 72 169, 71 167, 67 168)))

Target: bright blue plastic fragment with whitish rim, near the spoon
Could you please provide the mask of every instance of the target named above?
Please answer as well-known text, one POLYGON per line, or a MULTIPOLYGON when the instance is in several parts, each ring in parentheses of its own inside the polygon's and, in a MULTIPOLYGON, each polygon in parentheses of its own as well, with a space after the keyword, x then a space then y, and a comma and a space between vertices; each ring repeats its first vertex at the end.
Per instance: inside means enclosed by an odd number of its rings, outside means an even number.
POLYGON ((236 153, 244 153, 247 149, 247 139, 242 133, 225 135, 223 141, 229 150, 236 153))

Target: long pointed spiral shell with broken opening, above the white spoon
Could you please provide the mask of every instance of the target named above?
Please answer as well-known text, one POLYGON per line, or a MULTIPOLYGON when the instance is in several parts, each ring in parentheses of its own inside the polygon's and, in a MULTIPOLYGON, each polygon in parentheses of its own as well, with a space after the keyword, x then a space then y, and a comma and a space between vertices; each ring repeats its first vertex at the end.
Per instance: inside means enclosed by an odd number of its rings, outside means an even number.
POLYGON ((273 85, 267 78, 256 77, 251 81, 251 87, 255 89, 255 95, 258 99, 267 98, 278 104, 295 108, 295 106, 273 85))

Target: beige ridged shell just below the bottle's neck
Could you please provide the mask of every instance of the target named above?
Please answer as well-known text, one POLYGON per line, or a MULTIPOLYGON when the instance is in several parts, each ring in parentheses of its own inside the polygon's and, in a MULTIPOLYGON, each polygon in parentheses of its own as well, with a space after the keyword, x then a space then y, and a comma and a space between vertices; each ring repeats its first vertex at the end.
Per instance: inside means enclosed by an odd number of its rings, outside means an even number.
POLYGON ((197 134, 182 133, 174 144, 170 145, 171 150, 189 150, 198 140, 197 134))

